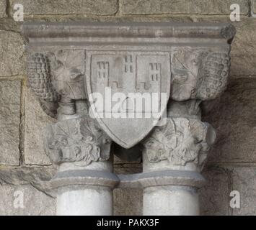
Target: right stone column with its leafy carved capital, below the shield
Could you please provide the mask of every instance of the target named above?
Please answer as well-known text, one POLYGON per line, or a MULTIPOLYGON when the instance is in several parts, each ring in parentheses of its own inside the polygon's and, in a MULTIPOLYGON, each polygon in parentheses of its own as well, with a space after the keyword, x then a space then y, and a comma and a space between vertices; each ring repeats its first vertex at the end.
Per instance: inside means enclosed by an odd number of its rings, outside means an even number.
POLYGON ((170 103, 166 124, 144 141, 144 173, 154 178, 144 188, 144 215, 200 214, 200 171, 216 133, 200 121, 199 103, 170 103))

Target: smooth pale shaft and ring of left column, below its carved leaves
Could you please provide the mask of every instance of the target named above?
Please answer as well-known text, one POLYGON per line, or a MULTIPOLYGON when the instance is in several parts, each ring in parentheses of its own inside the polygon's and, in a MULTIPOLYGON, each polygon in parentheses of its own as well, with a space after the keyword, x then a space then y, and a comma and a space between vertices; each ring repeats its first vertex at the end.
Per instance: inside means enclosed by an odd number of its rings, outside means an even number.
POLYGON ((51 180, 57 192, 58 216, 112 216, 112 190, 119 178, 110 162, 86 167, 65 163, 51 180))

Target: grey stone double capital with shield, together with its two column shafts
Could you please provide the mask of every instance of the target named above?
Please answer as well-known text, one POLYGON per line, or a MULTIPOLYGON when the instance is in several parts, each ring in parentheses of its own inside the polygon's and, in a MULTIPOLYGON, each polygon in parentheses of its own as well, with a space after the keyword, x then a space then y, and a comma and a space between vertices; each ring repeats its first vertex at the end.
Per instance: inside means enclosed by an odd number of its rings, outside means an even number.
MULTIPOLYGON (((144 188, 145 214, 172 214, 176 209, 168 202, 179 194, 181 203, 189 203, 187 212, 198 213, 200 171, 216 139, 213 127, 200 119, 200 104, 226 88, 234 27, 30 22, 23 33, 29 86, 42 109, 58 119, 43 134, 45 152, 59 166, 53 178, 58 213, 69 213, 66 202, 74 195, 81 203, 91 202, 87 196, 104 200, 103 214, 111 214, 111 190, 117 186, 144 188), (105 100, 109 92, 112 101, 105 100), (144 172, 113 174, 112 142, 124 152, 141 143, 144 172), (158 203, 157 196, 166 202, 158 203)), ((94 211, 81 213, 103 212, 94 211)))

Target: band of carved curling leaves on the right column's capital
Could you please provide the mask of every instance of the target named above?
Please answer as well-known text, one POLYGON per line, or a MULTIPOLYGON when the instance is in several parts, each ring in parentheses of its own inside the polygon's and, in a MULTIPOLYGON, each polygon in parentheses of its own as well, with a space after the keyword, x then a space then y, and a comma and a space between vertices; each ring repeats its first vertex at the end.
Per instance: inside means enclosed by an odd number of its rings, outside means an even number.
POLYGON ((193 162, 202 166, 215 138, 209 124, 196 119, 168 118, 167 124, 154 129, 143 144, 150 162, 169 160, 173 165, 193 162))

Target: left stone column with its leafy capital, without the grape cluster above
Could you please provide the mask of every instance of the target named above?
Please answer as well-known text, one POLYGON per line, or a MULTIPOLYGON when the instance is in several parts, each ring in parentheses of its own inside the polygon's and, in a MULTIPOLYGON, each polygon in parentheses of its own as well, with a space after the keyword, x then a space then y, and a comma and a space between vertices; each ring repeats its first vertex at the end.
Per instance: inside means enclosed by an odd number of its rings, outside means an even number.
POLYGON ((111 140, 85 106, 76 102, 74 115, 63 114, 63 106, 58 122, 45 129, 45 151, 59 165, 51 180, 57 192, 57 215, 110 216, 112 189, 118 183, 112 174, 111 140))

